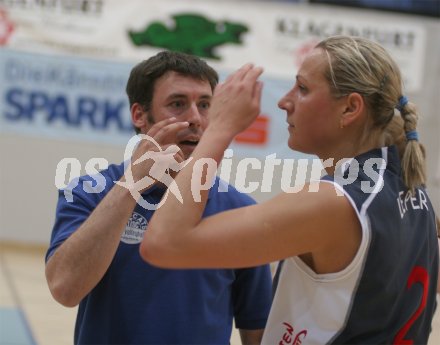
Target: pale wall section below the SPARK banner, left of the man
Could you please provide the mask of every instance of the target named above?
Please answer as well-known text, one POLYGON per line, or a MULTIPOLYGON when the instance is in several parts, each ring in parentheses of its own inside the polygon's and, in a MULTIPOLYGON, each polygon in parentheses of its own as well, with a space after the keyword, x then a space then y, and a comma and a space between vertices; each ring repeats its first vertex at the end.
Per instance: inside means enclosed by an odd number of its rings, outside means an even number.
MULTIPOLYGON (((55 170, 65 157, 123 160, 123 147, 0 135, 0 240, 47 244, 55 215, 55 170)), ((83 171, 84 173, 84 171, 83 171)))

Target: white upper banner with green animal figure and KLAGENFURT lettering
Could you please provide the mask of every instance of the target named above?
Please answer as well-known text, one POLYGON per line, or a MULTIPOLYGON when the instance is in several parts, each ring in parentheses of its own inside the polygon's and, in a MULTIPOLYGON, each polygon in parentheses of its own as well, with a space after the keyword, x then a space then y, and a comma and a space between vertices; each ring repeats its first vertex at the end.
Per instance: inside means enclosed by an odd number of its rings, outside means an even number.
POLYGON ((0 9, 0 42, 19 50, 129 61, 181 50, 221 70, 252 61, 291 78, 318 40, 348 34, 385 46, 407 92, 418 91, 423 76, 426 32, 407 16, 377 20, 341 8, 194 0, 0 0, 0 9))

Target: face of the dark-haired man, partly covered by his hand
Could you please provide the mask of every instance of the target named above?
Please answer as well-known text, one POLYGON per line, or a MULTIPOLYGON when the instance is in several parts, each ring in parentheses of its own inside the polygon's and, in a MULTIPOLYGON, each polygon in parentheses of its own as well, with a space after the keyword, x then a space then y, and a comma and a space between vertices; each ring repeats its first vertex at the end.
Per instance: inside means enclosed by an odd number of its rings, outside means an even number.
POLYGON ((170 117, 187 121, 189 127, 179 132, 176 138, 176 144, 187 159, 208 126, 211 98, 211 85, 208 81, 169 72, 156 81, 147 113, 149 125, 142 132, 146 133, 152 124, 170 117))

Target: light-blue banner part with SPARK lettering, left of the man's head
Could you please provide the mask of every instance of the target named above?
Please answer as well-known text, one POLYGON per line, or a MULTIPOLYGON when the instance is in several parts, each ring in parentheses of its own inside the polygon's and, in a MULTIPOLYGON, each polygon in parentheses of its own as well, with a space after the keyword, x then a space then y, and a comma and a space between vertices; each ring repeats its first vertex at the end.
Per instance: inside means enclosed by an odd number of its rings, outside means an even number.
POLYGON ((132 135, 129 65, 2 49, 0 66, 2 130, 118 145, 132 135))

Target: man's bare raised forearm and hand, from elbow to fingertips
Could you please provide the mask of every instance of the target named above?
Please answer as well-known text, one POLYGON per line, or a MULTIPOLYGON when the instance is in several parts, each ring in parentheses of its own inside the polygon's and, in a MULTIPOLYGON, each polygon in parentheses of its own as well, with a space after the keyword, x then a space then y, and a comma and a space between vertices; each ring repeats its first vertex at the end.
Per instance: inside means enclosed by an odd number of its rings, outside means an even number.
MULTIPOLYGON (((175 142, 178 131, 187 123, 170 118, 153 125, 147 132, 162 148, 175 142)), ((46 264, 46 279, 49 289, 59 303, 76 306, 102 279, 118 248, 122 232, 136 206, 133 188, 148 175, 154 164, 143 160, 133 164, 157 147, 149 140, 142 140, 133 153, 128 182, 121 177, 102 199, 87 220, 64 243, 57 248, 46 264)), ((151 186, 150 186, 151 187, 151 186)), ((136 190, 141 193, 142 190, 136 190)))

